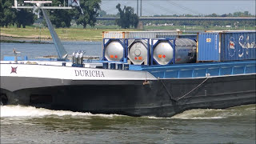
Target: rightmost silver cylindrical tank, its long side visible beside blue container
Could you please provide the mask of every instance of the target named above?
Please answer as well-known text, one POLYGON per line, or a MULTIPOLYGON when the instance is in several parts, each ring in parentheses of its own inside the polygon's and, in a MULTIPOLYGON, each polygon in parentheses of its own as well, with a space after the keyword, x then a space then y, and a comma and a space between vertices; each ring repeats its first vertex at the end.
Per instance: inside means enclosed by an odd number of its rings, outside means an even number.
POLYGON ((175 41, 154 39, 153 44, 153 64, 167 65, 170 63, 188 63, 195 61, 196 42, 192 39, 177 38, 175 41))

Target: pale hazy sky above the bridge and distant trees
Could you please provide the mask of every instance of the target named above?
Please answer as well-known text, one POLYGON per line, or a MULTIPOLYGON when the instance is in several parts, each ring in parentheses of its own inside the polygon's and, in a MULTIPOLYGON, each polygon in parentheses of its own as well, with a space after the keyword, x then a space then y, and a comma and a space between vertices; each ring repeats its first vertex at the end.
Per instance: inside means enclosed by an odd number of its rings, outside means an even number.
MULTIPOLYGON (((137 0, 102 0, 107 14, 117 14, 115 6, 132 6, 137 13, 137 0)), ((140 4, 140 0, 139 0, 140 4)), ((255 14, 255 0, 142 0, 142 16, 156 14, 229 14, 249 11, 255 14)))

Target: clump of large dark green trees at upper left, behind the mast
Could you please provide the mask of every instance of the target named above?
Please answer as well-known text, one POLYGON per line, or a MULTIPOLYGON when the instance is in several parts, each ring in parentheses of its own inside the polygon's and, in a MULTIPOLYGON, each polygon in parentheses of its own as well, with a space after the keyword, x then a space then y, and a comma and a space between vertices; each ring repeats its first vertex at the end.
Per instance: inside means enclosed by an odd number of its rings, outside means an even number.
MULTIPOLYGON (((65 1, 67 6, 67 1, 65 1)), ((74 10, 46 10, 50 15, 50 21, 56 28, 70 27, 72 19, 78 24, 86 28, 87 25, 95 26, 96 17, 100 10, 101 0, 80 0, 80 8, 74 10)), ((31 6, 18 0, 20 6, 31 6)), ((10 8, 14 5, 14 0, 0 0, 0 26, 17 26, 26 27, 33 25, 37 17, 32 13, 31 9, 15 10, 10 8)), ((47 5, 49 6, 49 5, 47 5)), ((52 0, 50 6, 64 6, 63 1, 52 0)), ((42 17, 42 13, 40 13, 42 17)))

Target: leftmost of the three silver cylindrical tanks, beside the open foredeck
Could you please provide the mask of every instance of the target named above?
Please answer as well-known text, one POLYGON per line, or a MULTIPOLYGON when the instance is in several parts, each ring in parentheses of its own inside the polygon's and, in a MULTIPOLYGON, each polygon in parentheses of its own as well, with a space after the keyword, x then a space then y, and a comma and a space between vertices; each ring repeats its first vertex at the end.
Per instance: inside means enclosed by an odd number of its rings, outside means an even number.
POLYGON ((122 61, 125 55, 125 46, 121 39, 109 40, 104 44, 104 58, 108 61, 122 61))

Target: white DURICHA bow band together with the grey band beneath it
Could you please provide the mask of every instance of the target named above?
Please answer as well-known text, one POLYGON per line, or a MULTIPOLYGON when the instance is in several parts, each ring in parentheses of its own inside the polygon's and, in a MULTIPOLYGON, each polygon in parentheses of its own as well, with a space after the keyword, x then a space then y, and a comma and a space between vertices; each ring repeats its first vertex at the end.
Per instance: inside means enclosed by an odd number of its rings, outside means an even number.
POLYGON ((0 64, 1 88, 15 91, 36 87, 67 86, 75 82, 156 80, 146 71, 99 68, 0 64), (75 81, 75 82, 74 82, 75 81))

